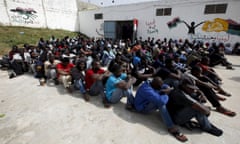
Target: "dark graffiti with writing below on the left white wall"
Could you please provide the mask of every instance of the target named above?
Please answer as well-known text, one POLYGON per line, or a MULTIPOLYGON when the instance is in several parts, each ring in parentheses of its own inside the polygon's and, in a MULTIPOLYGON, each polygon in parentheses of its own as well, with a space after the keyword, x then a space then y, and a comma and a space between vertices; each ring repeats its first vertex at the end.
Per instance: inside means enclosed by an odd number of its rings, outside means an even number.
POLYGON ((38 17, 36 15, 36 11, 32 8, 21 8, 17 7, 16 9, 11 9, 11 12, 15 13, 15 15, 12 15, 11 21, 20 23, 20 24, 39 24, 38 21, 36 21, 36 18, 38 17))

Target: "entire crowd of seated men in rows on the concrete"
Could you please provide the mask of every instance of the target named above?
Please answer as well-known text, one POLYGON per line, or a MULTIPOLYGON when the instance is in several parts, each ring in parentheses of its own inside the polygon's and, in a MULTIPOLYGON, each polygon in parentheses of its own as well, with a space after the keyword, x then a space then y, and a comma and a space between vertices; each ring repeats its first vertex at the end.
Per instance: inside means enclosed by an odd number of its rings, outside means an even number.
POLYGON ((105 107, 126 97, 126 109, 140 113, 159 110, 170 134, 187 141, 177 125, 222 135, 223 130, 208 119, 207 101, 219 113, 236 115, 221 104, 224 96, 231 94, 222 88, 222 78, 213 69, 216 65, 234 69, 225 57, 226 49, 223 43, 187 39, 66 36, 60 40, 52 36, 40 38, 37 46, 25 44, 21 50, 13 46, 9 78, 31 72, 41 85, 61 84, 69 93, 75 89, 85 101, 100 95, 105 107))

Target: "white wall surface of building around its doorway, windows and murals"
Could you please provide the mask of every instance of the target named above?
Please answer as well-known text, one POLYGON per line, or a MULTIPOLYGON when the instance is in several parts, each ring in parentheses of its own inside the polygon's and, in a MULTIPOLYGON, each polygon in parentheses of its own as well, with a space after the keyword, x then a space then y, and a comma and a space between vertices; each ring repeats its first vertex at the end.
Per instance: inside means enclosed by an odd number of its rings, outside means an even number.
POLYGON ((188 35, 188 28, 184 23, 178 23, 176 27, 169 28, 167 23, 174 18, 179 17, 181 20, 190 24, 194 21, 196 24, 202 21, 214 21, 215 18, 232 19, 240 23, 240 9, 239 0, 218 0, 216 2, 209 0, 187 0, 173 1, 172 3, 151 2, 132 5, 122 5, 114 7, 106 7, 94 11, 79 12, 80 31, 90 37, 101 37, 104 34, 104 21, 118 21, 118 20, 133 20, 138 19, 138 37, 142 36, 154 37, 155 39, 167 38, 195 38, 205 41, 223 41, 235 43, 240 41, 239 35, 232 35, 226 31, 221 32, 206 32, 202 29, 203 24, 195 29, 195 35, 188 35), (221 4, 228 3, 227 12, 225 14, 211 14, 204 15, 204 8, 206 4, 221 4), (171 16, 156 16, 156 9, 158 8, 172 8, 171 16), (95 13, 103 13, 102 20, 95 20, 95 13), (84 19, 84 20, 83 20, 84 19))

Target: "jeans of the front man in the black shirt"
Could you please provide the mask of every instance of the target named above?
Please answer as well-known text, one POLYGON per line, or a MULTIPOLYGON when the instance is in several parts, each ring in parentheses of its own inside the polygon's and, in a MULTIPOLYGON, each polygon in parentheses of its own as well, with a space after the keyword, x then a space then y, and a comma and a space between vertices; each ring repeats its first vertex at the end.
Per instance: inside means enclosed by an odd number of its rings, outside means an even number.
POLYGON ((186 107, 173 116, 175 123, 179 125, 185 124, 192 118, 196 118, 203 130, 210 130, 212 128, 207 116, 191 107, 186 107))

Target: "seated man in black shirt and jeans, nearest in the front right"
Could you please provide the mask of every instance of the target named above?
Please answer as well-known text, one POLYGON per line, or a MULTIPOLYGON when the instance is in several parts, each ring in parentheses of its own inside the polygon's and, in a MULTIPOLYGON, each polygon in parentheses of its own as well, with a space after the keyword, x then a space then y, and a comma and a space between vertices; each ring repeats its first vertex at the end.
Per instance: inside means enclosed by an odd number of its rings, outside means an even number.
POLYGON ((191 97, 197 89, 194 80, 185 76, 179 87, 169 94, 167 108, 173 121, 178 125, 186 125, 192 118, 196 118, 203 131, 221 136, 223 131, 208 120, 209 108, 191 97))

